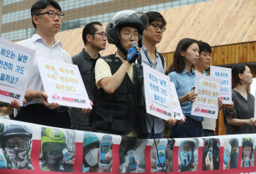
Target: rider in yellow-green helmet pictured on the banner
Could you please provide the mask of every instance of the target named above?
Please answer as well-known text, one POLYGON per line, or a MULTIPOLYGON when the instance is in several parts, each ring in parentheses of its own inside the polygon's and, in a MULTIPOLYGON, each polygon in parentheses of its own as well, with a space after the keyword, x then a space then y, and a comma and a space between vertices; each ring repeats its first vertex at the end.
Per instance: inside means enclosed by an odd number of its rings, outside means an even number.
POLYGON ((44 171, 72 172, 75 154, 68 164, 64 162, 63 150, 67 148, 66 136, 61 129, 42 128, 41 137, 41 169, 44 171))

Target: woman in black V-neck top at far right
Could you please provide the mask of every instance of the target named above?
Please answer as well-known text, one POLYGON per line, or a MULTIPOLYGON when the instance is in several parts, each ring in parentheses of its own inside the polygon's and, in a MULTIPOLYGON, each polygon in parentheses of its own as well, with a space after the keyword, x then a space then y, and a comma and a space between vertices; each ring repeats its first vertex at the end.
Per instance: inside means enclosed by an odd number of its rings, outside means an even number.
MULTIPOLYGON (((234 107, 223 110, 226 135, 256 133, 255 97, 246 88, 252 83, 249 65, 238 63, 232 67, 235 88, 232 90, 234 107)), ((255 91, 252 91, 255 92, 255 91)))

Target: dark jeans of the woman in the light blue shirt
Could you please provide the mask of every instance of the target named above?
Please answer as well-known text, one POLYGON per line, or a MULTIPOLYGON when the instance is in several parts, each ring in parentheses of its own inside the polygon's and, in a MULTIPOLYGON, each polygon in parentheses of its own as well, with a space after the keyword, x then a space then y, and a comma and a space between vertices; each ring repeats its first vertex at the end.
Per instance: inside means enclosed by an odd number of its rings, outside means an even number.
POLYGON ((177 124, 170 128, 171 138, 176 137, 203 137, 202 121, 195 121, 187 116, 183 124, 177 124))

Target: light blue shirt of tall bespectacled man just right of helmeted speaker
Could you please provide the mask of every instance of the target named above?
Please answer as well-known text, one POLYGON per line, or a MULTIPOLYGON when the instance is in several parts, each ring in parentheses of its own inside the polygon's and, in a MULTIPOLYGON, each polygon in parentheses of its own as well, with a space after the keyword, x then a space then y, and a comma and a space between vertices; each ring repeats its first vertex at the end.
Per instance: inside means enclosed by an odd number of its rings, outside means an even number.
MULTIPOLYGON (((165 75, 165 70, 166 70, 166 61, 164 62, 164 67, 162 67, 162 60, 159 56, 159 53, 157 51, 156 48, 156 61, 153 63, 153 61, 151 60, 151 58, 148 55, 148 50, 144 47, 141 48, 140 51, 140 58, 141 58, 141 62, 143 62, 144 64, 148 65, 148 67, 151 67, 153 69, 156 69, 159 72, 162 72, 165 75)), ((164 58, 165 60, 165 58, 164 58)), ((161 118, 155 118, 153 116, 151 116, 150 114, 147 114, 148 119, 146 119, 146 126, 148 129, 148 132, 151 132, 151 126, 154 126, 154 133, 158 134, 160 132, 162 132, 164 130, 164 125, 162 123, 162 119, 161 118), (148 123, 149 120, 149 123, 148 123)))

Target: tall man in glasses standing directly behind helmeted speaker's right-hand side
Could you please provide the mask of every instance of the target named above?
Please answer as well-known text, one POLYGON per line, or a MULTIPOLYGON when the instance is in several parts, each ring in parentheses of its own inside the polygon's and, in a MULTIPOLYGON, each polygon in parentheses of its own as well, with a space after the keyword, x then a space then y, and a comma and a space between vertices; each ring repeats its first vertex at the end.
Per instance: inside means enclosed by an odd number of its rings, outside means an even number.
MULTIPOLYGON (((159 72, 165 74, 166 61, 165 57, 161 53, 157 52, 156 45, 161 42, 162 34, 165 31, 166 21, 165 18, 159 12, 146 12, 148 17, 148 27, 143 32, 143 47, 140 52, 141 61, 149 67, 156 69, 159 72)), ((164 126, 161 118, 156 118, 147 114, 148 119, 146 120, 146 126, 148 129, 148 138, 163 138, 164 137, 164 126)), ((182 120, 181 120, 182 121, 182 120)), ((169 121, 173 126, 176 121, 170 118, 169 121)))

